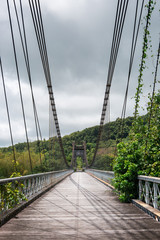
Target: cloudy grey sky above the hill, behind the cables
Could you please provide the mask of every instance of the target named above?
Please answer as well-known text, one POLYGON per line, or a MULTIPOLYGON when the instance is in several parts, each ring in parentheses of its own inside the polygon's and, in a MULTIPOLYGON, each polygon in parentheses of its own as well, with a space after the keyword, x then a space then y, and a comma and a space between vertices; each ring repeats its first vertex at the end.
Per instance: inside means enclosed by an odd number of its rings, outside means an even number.
MULTIPOLYGON (((16 49, 26 112, 29 139, 35 139, 31 94, 24 65, 19 34, 10 0, 16 49)), ((19 1, 16 1, 19 2, 19 1)), ((33 90, 43 138, 49 135, 49 100, 39 57, 28 1, 23 0, 33 90)), ((141 3, 141 1, 139 1, 141 3)), ((159 1, 158 1, 159 2, 159 1)), ((130 1, 110 94, 111 120, 120 117, 128 74, 133 19, 136 1, 130 1)), ((109 0, 41 0, 48 57, 57 113, 62 135, 98 125, 102 110, 117 1, 109 0)), ((160 32, 160 3, 153 13, 151 35, 154 57, 148 60, 142 106, 150 91, 160 32)), ((143 15, 145 14, 145 10, 143 15)), ((141 57, 143 26, 133 64, 127 115, 133 114, 141 57)), ((14 142, 24 142, 24 125, 6 0, 0 2, 0 55, 8 94, 14 142)), ((152 53, 150 53, 152 55, 152 53)), ((0 146, 10 145, 9 128, 0 76, 0 146)), ((142 110, 140 110, 142 113, 142 110)))

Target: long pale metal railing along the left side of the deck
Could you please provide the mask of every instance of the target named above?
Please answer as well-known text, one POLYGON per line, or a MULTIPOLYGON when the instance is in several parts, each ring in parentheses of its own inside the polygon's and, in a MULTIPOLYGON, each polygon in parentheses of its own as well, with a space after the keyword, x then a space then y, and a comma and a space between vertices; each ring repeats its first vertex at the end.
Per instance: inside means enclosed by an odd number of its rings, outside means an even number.
POLYGON ((38 193, 60 182, 73 170, 61 170, 47 173, 26 175, 0 180, 0 213, 32 199, 38 193))

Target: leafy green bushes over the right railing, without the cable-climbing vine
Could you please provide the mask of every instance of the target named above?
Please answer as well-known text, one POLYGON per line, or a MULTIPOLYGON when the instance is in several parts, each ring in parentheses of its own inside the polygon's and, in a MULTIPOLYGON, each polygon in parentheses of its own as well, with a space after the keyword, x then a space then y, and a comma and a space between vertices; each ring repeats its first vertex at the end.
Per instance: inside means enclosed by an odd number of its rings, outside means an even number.
MULTIPOLYGON (((160 177, 160 101, 155 96, 150 128, 141 117, 136 120, 139 131, 131 130, 130 140, 118 144, 114 162, 115 188, 124 202, 137 198, 137 175, 160 177), (148 132, 149 131, 149 132, 148 132), (147 141, 147 148, 146 148, 147 141)), ((150 108, 148 107, 148 111, 150 108)))

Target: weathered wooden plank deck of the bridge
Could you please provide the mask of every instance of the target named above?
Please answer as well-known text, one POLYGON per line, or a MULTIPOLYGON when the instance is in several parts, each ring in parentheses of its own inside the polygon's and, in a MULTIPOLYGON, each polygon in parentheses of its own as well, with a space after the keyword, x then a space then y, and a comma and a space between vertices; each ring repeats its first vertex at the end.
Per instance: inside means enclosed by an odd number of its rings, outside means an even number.
POLYGON ((77 172, 0 229, 3 240, 160 239, 160 223, 122 204, 105 185, 77 172))

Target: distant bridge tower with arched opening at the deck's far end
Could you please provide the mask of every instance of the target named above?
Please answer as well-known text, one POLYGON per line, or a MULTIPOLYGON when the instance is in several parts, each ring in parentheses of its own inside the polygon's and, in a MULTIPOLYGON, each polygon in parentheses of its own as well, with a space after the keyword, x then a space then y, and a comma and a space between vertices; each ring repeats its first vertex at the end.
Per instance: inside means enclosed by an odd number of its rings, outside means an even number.
POLYGON ((75 142, 72 143, 72 167, 77 167, 77 157, 81 157, 83 161, 83 168, 88 167, 87 155, 86 155, 86 142, 84 141, 82 145, 76 145, 75 142))

